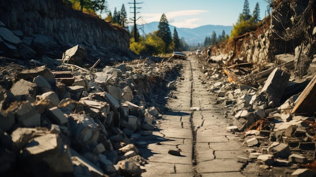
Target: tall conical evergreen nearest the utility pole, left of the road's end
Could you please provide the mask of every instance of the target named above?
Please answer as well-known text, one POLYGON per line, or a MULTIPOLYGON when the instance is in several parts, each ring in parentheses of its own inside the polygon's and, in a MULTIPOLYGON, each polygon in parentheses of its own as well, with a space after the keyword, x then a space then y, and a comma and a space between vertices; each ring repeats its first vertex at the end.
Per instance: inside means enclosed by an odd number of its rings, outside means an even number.
POLYGON ((162 38, 163 41, 165 42, 166 44, 165 52, 169 52, 167 51, 167 49, 172 42, 172 37, 171 37, 171 31, 169 28, 169 23, 165 14, 163 14, 160 19, 160 22, 158 25, 157 36, 162 38))

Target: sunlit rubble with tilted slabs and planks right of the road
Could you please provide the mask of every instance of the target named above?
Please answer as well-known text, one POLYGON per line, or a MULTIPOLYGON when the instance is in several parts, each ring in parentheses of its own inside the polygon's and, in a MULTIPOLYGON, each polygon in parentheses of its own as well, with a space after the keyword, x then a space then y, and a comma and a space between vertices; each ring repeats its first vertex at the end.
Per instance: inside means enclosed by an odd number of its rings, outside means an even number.
POLYGON ((223 67, 220 61, 201 68, 210 93, 217 95, 218 104, 230 110, 225 112, 231 117, 228 131, 242 135, 245 146, 250 147, 249 155, 238 157, 238 161, 247 164, 255 161, 266 171, 288 167, 290 174, 297 169, 293 176, 312 176, 315 174, 312 171, 316 171, 313 104, 316 77, 313 63, 310 75, 295 77, 295 56, 276 55, 276 64, 267 65, 270 68, 261 72, 252 70, 248 75, 239 71, 249 70, 253 65, 223 67), (258 76, 261 80, 253 81, 258 76), (252 78, 251 82, 248 78, 252 78))

